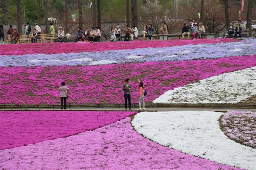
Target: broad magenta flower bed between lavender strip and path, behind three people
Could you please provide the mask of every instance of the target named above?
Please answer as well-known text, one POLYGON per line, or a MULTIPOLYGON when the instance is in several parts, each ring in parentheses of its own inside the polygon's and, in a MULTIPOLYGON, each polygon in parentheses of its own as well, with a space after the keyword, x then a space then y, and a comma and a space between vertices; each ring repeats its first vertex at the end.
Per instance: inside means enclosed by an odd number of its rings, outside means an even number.
POLYGON ((255 65, 256 56, 236 56, 100 66, 2 67, 0 103, 57 104, 62 81, 70 88, 69 103, 123 103, 126 78, 131 79, 132 103, 138 103, 138 78, 148 92, 145 101, 152 102, 165 91, 255 65))

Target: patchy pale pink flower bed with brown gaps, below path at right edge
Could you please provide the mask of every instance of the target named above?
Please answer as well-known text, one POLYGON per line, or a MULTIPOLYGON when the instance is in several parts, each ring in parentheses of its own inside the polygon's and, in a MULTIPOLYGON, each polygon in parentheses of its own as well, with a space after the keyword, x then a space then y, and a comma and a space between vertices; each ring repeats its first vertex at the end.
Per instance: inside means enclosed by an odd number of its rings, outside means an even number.
POLYGON ((221 117, 220 125, 228 138, 256 148, 256 112, 228 111, 221 117))

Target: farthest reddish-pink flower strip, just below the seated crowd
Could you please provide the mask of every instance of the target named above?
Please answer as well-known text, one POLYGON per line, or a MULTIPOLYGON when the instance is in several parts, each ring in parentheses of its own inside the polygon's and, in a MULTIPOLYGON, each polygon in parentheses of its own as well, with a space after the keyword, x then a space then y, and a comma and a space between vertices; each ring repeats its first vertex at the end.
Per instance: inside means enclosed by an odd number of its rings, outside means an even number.
POLYGON ((149 47, 172 47, 191 44, 216 44, 232 42, 234 39, 197 39, 197 40, 170 40, 170 41, 129 41, 129 42, 100 42, 100 43, 35 43, 23 45, 1 45, 0 55, 23 54, 57 54, 109 51, 114 49, 134 49, 149 47))

